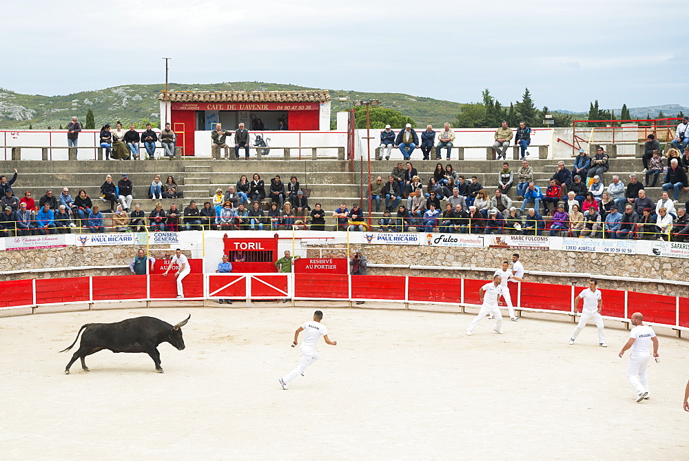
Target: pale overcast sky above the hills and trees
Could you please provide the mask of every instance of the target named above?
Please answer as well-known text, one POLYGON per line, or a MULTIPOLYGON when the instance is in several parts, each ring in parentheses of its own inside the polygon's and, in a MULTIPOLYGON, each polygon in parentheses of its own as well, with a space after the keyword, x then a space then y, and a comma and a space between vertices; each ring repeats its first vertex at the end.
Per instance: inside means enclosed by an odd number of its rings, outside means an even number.
POLYGON ((689 106, 687 4, 654 0, 5 3, 0 86, 265 81, 538 107, 689 106))

